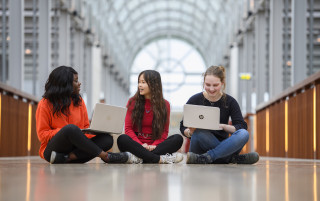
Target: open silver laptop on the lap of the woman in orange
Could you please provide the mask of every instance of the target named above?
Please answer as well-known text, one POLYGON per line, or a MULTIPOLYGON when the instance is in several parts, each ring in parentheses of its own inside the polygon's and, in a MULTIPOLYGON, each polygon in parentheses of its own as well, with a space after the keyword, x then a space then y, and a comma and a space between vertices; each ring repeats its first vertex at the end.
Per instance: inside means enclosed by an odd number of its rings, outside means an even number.
POLYGON ((127 108, 97 103, 89 128, 81 129, 90 134, 121 134, 127 108))

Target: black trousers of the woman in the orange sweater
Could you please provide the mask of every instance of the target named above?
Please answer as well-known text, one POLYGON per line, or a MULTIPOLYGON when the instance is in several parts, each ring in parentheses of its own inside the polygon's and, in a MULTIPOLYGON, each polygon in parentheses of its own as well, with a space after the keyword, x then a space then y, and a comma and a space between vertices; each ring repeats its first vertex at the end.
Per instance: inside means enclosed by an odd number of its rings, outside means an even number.
POLYGON ((111 135, 96 135, 89 139, 78 126, 69 124, 52 137, 43 155, 49 162, 52 151, 66 155, 72 152, 77 156, 77 159, 70 161, 70 163, 85 163, 98 156, 102 150, 108 151, 112 145, 111 135))

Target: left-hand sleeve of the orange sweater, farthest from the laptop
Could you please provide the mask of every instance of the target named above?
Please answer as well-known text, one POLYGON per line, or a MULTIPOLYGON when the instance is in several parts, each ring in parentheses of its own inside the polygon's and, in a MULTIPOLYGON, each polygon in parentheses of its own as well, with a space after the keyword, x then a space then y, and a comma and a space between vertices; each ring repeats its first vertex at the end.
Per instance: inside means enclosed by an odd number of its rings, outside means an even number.
POLYGON ((36 129, 41 144, 47 144, 49 140, 61 129, 51 128, 51 115, 52 112, 46 102, 44 100, 40 101, 36 112, 36 129))

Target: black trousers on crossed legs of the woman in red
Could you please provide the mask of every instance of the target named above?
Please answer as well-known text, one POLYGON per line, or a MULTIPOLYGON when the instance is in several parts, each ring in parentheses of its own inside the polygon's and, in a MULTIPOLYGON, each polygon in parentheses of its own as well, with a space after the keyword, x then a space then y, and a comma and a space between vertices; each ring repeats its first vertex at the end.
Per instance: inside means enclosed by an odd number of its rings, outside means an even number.
POLYGON ((141 158, 143 163, 158 163, 160 155, 167 153, 172 154, 182 146, 182 136, 179 134, 171 135, 165 141, 160 143, 153 151, 148 151, 141 144, 134 141, 128 135, 120 135, 118 137, 118 147, 122 152, 128 151, 135 156, 141 158))

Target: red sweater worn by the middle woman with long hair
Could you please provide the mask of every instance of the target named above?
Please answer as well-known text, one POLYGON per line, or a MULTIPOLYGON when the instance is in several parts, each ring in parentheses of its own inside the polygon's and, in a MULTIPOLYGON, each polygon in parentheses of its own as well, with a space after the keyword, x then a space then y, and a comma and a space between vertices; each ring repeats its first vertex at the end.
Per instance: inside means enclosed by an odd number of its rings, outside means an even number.
MULTIPOLYGON (((132 98, 131 98, 132 99, 132 98)), ((131 100, 130 99, 130 100, 131 100)), ((167 107, 167 123, 165 124, 164 131, 162 133, 162 136, 158 140, 152 140, 152 120, 153 120, 153 111, 151 109, 151 102, 150 99, 146 99, 145 102, 145 111, 142 118, 142 125, 141 125, 141 132, 143 135, 136 135, 135 132, 138 133, 138 128, 134 127, 132 125, 132 119, 131 114, 132 110, 134 108, 135 101, 133 100, 131 102, 131 105, 129 106, 129 102, 127 104, 127 114, 126 114, 126 121, 125 121, 125 133, 129 135, 134 141, 138 142, 139 144, 147 143, 148 145, 158 145, 161 142, 163 142, 168 137, 169 132, 169 122, 170 122, 170 104, 168 101, 166 102, 167 107)))

